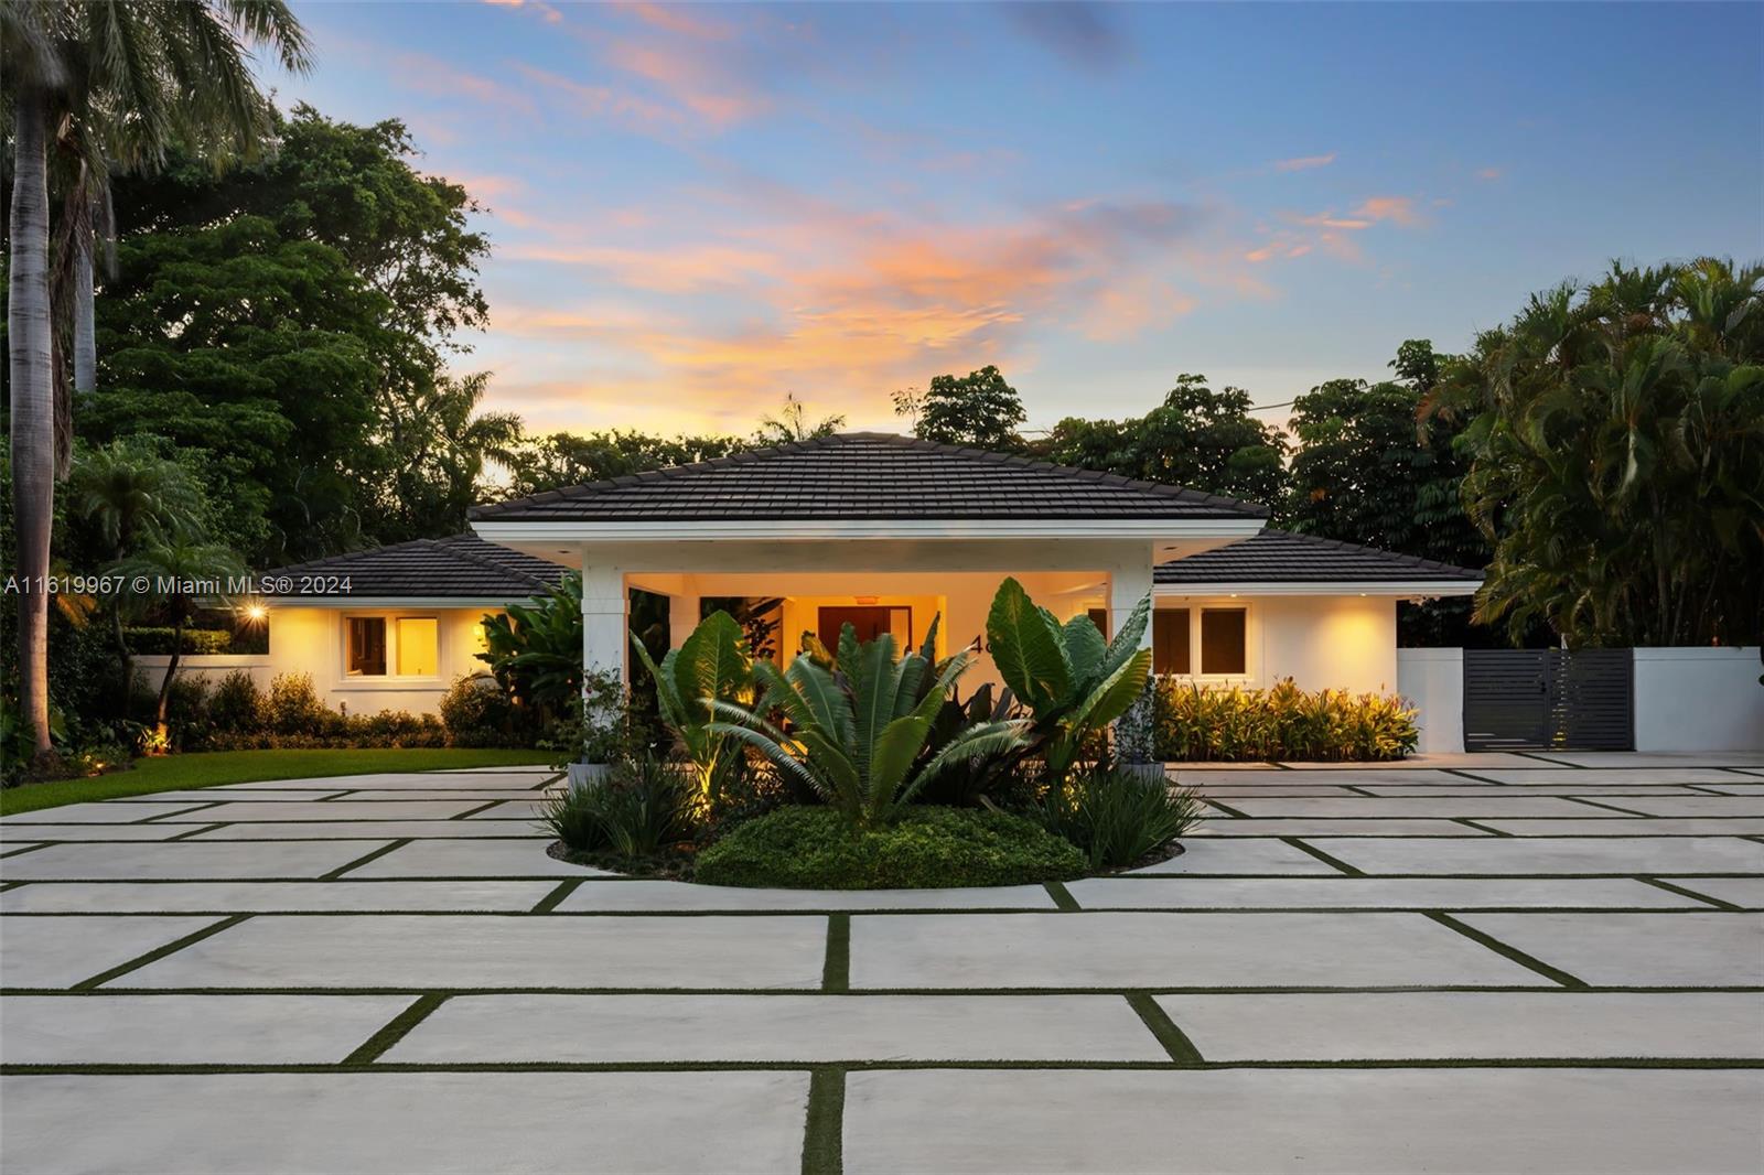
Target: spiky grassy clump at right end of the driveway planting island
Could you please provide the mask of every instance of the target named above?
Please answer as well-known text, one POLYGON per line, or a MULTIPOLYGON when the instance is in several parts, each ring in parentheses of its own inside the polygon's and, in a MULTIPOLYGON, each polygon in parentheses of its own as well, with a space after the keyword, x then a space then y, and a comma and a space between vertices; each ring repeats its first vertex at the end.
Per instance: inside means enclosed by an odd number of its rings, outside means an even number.
POLYGON ((1090 771, 1050 787, 1039 815, 1050 833, 1090 857, 1092 870, 1118 870, 1194 827, 1201 803, 1161 778, 1090 771))

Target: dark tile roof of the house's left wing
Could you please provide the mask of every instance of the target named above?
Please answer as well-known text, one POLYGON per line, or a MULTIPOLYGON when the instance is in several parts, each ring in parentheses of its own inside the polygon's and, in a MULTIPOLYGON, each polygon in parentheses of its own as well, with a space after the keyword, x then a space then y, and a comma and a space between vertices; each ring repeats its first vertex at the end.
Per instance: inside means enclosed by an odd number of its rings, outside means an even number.
POLYGON ((392 547, 351 550, 326 559, 296 563, 265 572, 263 579, 293 579, 293 591, 277 598, 303 595, 303 577, 348 577, 349 589, 312 591, 337 596, 459 596, 462 600, 526 600, 554 586, 570 568, 536 556, 510 550, 476 535, 418 538, 392 547))

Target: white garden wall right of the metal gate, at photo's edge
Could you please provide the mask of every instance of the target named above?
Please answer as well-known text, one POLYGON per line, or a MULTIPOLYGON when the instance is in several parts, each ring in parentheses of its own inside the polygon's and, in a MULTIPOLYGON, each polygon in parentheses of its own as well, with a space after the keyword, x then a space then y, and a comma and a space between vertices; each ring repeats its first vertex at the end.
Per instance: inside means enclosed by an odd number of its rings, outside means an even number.
POLYGON ((1635 750, 1764 750, 1757 649, 1635 649, 1635 750))

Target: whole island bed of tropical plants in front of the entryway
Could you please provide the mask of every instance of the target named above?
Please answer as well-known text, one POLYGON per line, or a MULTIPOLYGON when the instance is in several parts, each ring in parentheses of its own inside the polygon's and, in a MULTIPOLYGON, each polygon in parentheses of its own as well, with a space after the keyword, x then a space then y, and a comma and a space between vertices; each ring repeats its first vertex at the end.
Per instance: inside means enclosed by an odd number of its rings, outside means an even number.
POLYGON ((1170 849, 1200 805, 1161 767, 1117 764, 1110 723, 1143 695, 1150 603, 1113 640, 1058 621, 1016 580, 986 635, 1004 688, 967 699, 963 649, 884 633, 838 647, 804 633, 785 669, 713 612, 654 660, 633 633, 665 727, 663 755, 630 725, 605 778, 559 796, 547 822, 575 857, 729 886, 926 887, 1058 880, 1170 849))

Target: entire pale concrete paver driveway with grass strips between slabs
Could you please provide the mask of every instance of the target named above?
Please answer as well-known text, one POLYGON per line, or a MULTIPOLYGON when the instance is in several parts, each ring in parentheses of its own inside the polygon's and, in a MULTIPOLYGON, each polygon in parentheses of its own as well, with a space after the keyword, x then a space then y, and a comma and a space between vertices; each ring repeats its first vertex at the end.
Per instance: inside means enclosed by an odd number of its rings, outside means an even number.
POLYGON ((0 1168, 1764 1168, 1764 755, 1192 769, 1152 870, 875 894, 561 864, 549 782, 0 820, 0 1168))

